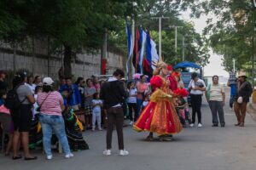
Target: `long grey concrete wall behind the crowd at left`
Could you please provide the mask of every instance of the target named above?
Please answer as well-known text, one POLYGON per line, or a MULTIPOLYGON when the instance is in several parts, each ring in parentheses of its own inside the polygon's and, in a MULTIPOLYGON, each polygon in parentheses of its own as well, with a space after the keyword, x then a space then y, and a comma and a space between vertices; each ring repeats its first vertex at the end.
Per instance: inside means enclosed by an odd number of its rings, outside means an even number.
MULTIPOLYGON (((50 57, 48 65, 47 49, 44 44, 39 44, 36 47, 35 57, 32 53, 18 48, 14 55, 14 48, 8 44, 1 44, 0 47, 0 70, 19 70, 26 68, 33 72, 33 75, 42 77, 58 78, 58 71, 63 65, 61 54, 55 54, 50 57), (14 62, 15 56, 15 62, 14 62), (14 67, 15 63, 15 67, 14 67), (49 67, 49 75, 48 75, 49 67)), ((122 54, 108 52, 107 74, 112 74, 116 68, 121 68, 125 71, 125 57, 122 54)), ((96 54, 77 54, 76 60, 72 63, 73 75, 75 77, 90 77, 91 75, 101 74, 101 53, 96 54)))

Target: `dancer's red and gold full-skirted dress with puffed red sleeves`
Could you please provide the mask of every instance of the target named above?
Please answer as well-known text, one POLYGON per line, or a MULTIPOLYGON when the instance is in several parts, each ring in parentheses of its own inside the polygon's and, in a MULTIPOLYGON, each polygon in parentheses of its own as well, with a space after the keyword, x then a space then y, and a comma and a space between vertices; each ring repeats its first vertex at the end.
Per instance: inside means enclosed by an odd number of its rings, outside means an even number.
POLYGON ((175 111, 174 98, 169 88, 169 81, 160 76, 150 80, 154 93, 134 124, 138 132, 148 131, 158 135, 175 134, 182 131, 183 126, 175 111))

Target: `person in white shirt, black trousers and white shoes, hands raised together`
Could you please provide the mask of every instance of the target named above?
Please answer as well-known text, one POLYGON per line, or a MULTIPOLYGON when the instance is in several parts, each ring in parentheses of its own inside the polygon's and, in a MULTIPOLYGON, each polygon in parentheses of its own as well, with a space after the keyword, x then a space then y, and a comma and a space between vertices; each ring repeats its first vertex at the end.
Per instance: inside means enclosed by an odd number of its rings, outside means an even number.
POLYGON ((193 72, 191 75, 192 80, 189 83, 189 90, 191 96, 191 105, 192 105, 192 123, 190 127, 195 125, 195 115, 197 113, 198 118, 198 127, 202 127, 201 124, 201 102, 203 92, 206 91, 206 84, 203 80, 198 77, 196 72, 193 72))

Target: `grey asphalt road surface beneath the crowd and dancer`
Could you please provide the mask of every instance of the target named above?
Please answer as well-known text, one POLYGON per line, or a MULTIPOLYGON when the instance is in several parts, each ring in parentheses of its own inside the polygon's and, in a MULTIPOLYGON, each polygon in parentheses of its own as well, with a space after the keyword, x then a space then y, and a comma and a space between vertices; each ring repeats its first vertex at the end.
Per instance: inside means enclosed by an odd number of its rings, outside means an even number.
POLYGON ((119 156, 116 133, 113 133, 113 155, 103 156, 105 131, 84 132, 90 150, 74 152, 64 159, 55 152, 47 161, 42 151, 35 151, 36 161, 13 161, 0 156, 1 170, 247 170, 255 169, 256 123, 247 115, 245 127, 235 127, 236 116, 230 111, 228 99, 224 108, 226 127, 212 127, 211 111, 202 105, 203 127, 187 127, 174 135, 171 142, 145 141, 148 133, 137 133, 125 127, 125 148, 129 156, 119 156))

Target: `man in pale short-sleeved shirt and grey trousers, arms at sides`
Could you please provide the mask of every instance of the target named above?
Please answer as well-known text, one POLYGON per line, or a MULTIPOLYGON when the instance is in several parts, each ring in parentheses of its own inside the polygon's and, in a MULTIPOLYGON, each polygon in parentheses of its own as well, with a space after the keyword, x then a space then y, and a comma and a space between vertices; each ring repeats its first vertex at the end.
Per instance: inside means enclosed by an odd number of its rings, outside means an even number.
POLYGON ((224 120, 224 86, 218 83, 218 76, 212 77, 212 83, 209 83, 206 91, 207 102, 212 111, 212 127, 218 127, 218 119, 220 126, 225 126, 224 120), (218 112, 218 115, 217 115, 218 112))

